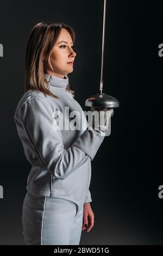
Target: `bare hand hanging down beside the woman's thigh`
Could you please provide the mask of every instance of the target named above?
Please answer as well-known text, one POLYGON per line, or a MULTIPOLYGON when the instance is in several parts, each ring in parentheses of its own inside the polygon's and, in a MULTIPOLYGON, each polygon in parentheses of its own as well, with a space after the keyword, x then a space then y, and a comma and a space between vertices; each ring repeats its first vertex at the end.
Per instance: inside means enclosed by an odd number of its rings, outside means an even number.
POLYGON ((87 228, 87 232, 91 230, 94 225, 94 214, 91 208, 90 203, 84 203, 83 205, 83 226, 82 231, 87 228), (87 224, 87 227, 85 227, 87 224))

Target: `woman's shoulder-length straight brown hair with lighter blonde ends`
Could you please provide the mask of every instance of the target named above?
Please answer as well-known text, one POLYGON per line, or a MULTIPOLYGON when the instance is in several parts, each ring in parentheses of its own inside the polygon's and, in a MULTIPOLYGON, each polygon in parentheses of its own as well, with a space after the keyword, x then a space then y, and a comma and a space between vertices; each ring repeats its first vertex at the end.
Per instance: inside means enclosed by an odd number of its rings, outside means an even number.
MULTIPOLYGON (((40 22, 32 28, 25 53, 24 93, 29 89, 35 89, 58 99, 58 96, 49 90, 44 73, 45 66, 51 66, 50 53, 62 28, 70 33, 74 43, 75 33, 73 28, 65 23, 40 22)), ((69 84, 67 84, 66 90, 74 96, 74 91, 70 89, 69 84)))

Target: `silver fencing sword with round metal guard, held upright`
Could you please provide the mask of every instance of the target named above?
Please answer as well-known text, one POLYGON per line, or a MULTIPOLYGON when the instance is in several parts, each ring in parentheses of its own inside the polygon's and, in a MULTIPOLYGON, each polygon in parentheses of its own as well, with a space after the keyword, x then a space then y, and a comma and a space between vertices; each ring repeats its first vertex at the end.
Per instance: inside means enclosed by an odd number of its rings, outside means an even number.
MULTIPOLYGON (((101 81, 99 93, 88 97, 85 101, 87 107, 119 107, 119 101, 112 96, 103 93, 103 65, 104 65, 104 40, 105 40, 105 16, 106 16, 106 0, 104 0, 104 15, 103 15, 103 39, 102 39, 102 65, 101 65, 101 81)), ((113 115, 113 114, 112 114, 113 115)))

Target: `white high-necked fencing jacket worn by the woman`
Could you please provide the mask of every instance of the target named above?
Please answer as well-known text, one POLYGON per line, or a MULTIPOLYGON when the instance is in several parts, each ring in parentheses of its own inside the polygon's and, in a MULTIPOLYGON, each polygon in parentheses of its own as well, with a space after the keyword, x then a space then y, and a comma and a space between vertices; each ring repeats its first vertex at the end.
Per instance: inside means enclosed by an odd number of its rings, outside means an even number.
POLYGON ((82 124, 88 124, 83 109, 72 93, 66 90, 66 75, 64 78, 44 75, 49 89, 59 99, 30 89, 18 102, 14 117, 24 154, 32 164, 27 191, 72 200, 77 204, 92 202, 89 190, 91 161, 104 136, 99 130, 87 127, 67 129, 66 125, 70 125, 74 117, 77 123, 82 118, 82 124), (65 108, 69 109, 68 112, 65 108), (73 115, 75 112, 80 116, 73 115), (63 114, 64 129, 60 129, 60 119, 57 122, 54 113, 63 114))

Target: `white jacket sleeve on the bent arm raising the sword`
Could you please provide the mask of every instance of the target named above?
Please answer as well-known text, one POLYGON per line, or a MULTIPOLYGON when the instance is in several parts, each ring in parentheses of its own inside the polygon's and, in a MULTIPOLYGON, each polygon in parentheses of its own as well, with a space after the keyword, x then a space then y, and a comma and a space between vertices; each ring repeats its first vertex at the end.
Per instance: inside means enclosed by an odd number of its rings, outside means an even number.
POLYGON ((66 179, 87 157, 93 160, 104 136, 98 130, 85 130, 65 149, 52 114, 52 106, 43 99, 28 100, 20 111, 24 129, 42 165, 55 177, 66 179))

